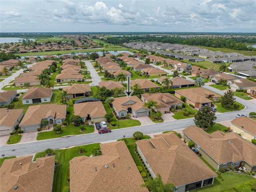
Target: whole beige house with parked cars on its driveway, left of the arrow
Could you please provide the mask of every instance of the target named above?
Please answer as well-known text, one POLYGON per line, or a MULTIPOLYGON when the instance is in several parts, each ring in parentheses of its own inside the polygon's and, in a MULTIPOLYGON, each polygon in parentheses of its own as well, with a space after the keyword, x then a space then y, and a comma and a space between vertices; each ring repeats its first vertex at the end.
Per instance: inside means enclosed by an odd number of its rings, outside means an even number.
POLYGON ((83 122, 92 120, 92 122, 105 121, 106 110, 101 101, 83 102, 74 104, 74 115, 79 115, 83 122))

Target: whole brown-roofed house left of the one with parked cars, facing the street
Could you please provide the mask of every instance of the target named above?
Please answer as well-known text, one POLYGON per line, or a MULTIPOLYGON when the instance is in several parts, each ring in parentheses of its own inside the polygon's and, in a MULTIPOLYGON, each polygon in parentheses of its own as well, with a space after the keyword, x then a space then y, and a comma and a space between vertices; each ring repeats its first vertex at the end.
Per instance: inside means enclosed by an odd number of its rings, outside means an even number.
POLYGON ((66 119, 66 105, 40 104, 29 106, 26 114, 20 122, 24 132, 37 131, 41 128, 42 120, 48 120, 49 124, 62 124, 66 119))

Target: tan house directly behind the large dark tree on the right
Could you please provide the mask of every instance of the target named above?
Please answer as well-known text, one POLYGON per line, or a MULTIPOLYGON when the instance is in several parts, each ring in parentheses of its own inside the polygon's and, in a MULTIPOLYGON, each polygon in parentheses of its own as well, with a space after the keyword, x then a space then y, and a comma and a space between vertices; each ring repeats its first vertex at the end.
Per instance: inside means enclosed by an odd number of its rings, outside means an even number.
POLYGON ((220 95, 202 87, 175 90, 175 96, 179 99, 181 96, 184 96, 186 98, 186 103, 191 104, 196 108, 200 108, 204 105, 211 106, 212 100, 218 101, 220 99, 220 95))

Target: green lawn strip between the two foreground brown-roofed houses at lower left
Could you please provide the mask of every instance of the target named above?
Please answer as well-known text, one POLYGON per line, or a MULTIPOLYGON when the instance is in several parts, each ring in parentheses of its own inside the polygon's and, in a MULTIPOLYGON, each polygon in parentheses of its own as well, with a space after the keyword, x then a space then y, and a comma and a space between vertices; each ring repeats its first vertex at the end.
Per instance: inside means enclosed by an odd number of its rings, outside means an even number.
MULTIPOLYGON (((56 166, 53 179, 53 187, 52 191, 62 192, 65 186, 69 186, 68 178, 69 178, 69 161, 72 158, 77 156, 90 156, 92 154, 93 148, 99 148, 100 144, 89 144, 84 145, 84 153, 78 154, 78 147, 63 149, 63 150, 54 150, 55 160, 58 160, 59 165, 56 166)), ((39 152, 36 154, 34 161, 36 158, 44 157, 46 155, 45 152, 39 152)), ((85 181, 86 182, 86 181, 85 181)))

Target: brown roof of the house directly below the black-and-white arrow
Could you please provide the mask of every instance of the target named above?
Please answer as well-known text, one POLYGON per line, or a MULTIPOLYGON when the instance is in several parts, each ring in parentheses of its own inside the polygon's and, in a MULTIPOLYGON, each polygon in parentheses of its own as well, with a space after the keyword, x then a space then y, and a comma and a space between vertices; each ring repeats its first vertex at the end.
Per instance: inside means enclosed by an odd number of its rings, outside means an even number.
POLYGON ((116 97, 112 102, 113 106, 115 106, 116 110, 120 112, 121 110, 128 111, 127 108, 132 108, 134 111, 137 111, 141 108, 147 109, 144 107, 144 103, 137 96, 128 97, 116 97))

